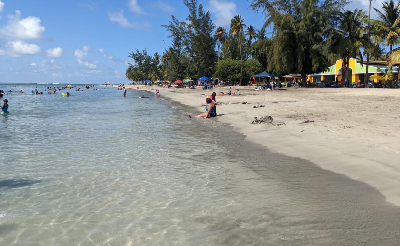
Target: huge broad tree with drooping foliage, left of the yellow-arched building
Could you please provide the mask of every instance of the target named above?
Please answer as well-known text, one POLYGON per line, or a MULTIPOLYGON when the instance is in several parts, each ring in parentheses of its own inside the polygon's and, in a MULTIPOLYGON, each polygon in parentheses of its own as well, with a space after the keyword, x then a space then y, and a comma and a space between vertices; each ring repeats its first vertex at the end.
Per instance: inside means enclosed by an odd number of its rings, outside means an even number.
POLYGON ((305 84, 306 74, 328 68, 329 30, 346 4, 346 0, 253 0, 250 8, 265 15, 264 27, 273 24, 268 70, 300 73, 305 84))

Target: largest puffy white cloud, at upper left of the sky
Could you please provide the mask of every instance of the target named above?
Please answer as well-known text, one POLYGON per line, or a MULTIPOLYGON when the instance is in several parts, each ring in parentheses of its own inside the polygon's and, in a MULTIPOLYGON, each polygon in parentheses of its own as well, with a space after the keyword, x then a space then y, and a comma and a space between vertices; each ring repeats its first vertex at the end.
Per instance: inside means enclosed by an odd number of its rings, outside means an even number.
POLYGON ((21 12, 15 11, 15 15, 8 15, 8 24, 0 30, 4 36, 17 39, 38 39, 46 28, 40 25, 40 18, 28 16, 21 19, 21 12))

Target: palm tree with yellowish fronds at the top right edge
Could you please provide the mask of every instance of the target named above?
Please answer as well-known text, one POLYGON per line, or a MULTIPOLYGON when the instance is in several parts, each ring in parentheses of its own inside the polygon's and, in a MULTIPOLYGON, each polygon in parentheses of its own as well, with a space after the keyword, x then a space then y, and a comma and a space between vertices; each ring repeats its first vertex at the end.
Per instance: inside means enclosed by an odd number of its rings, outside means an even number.
POLYGON ((390 56, 393 45, 400 43, 400 2, 394 4, 393 0, 390 0, 390 2, 382 3, 383 13, 376 8, 374 10, 378 13, 378 20, 374 20, 374 24, 380 27, 384 33, 385 44, 390 46, 390 56))

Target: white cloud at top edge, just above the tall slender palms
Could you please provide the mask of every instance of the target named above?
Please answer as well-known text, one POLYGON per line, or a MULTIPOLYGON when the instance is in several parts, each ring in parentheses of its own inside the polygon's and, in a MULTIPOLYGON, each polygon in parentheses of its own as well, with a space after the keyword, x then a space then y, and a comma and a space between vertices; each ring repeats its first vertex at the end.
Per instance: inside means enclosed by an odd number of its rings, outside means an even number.
POLYGON ((210 12, 216 26, 228 26, 236 14, 236 4, 228 0, 210 0, 210 12))

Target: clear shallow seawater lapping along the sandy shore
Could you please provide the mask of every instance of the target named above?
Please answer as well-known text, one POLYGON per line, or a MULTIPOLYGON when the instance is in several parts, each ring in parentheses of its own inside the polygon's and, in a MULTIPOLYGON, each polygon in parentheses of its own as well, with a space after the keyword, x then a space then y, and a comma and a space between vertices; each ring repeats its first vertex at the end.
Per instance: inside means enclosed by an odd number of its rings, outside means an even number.
POLYGON ((399 245, 373 187, 98 88, 4 96, 0 245, 399 245))

